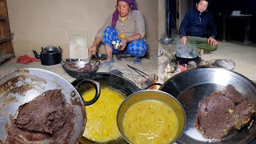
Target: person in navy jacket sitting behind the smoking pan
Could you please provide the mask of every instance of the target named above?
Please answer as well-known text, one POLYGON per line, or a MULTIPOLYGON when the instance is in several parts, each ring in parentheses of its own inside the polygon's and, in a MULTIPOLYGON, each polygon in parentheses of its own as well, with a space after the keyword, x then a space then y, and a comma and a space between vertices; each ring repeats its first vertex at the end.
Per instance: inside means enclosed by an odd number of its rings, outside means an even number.
POLYGON ((182 44, 195 45, 204 51, 218 48, 217 27, 212 14, 207 12, 208 5, 208 0, 198 0, 196 7, 185 14, 179 29, 182 44))

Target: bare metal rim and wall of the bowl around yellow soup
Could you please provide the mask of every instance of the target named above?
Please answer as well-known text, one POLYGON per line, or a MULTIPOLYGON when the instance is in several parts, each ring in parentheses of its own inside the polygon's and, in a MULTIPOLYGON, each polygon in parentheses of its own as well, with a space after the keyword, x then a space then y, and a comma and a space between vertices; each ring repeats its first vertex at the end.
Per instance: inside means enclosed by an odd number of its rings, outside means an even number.
MULTIPOLYGON (((131 94, 128 98, 126 98, 125 101, 122 102, 121 106, 119 106, 118 115, 117 115, 118 130, 122 134, 122 137, 126 139, 127 142, 132 143, 130 141, 130 138, 127 137, 126 132, 124 130, 125 126, 123 126, 123 118, 125 117, 127 110, 129 110, 131 106, 133 106, 137 102, 146 101, 146 100, 154 100, 157 102, 165 103, 167 106, 170 106, 173 110, 175 110, 175 113, 178 118, 178 130, 177 130, 177 134, 175 134, 175 137, 174 139, 172 139, 171 143, 175 142, 181 136, 185 128, 186 114, 182 105, 180 104, 180 102, 178 102, 176 98, 160 90, 140 90, 134 94, 131 94)), ((141 108, 141 110, 145 110, 145 109, 141 108)), ((157 125, 157 123, 155 124, 157 125)), ((144 131, 144 132, 150 133, 150 127, 148 127, 148 129, 149 131, 144 131)))

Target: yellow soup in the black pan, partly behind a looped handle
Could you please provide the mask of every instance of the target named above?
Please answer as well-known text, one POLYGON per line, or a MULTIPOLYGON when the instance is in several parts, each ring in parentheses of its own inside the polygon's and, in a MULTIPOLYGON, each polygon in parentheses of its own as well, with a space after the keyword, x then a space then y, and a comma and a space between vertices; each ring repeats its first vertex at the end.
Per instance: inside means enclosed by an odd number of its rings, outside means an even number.
MULTIPOLYGON (((82 94, 85 101, 94 98, 95 90, 82 94)), ((121 137, 117 126, 117 113, 124 97, 109 87, 101 88, 101 95, 93 105, 86 106, 86 129, 83 137, 94 142, 110 142, 121 137)))

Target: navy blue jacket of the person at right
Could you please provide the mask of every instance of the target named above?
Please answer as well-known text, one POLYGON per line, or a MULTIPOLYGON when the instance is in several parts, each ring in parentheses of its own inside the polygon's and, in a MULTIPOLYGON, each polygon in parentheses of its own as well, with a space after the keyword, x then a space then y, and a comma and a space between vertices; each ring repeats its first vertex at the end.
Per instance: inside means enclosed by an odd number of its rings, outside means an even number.
POLYGON ((194 7, 185 14, 179 29, 179 35, 181 38, 183 36, 215 37, 217 35, 217 27, 214 24, 212 14, 207 11, 200 13, 194 7))

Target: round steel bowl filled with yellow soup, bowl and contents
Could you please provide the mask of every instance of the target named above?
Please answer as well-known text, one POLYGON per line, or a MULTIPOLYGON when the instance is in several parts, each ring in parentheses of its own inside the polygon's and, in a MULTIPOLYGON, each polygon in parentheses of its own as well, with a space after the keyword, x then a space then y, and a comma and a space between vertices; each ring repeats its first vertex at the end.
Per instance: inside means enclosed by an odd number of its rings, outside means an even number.
POLYGON ((176 98, 160 90, 140 90, 122 102, 118 130, 129 143, 172 143, 186 126, 186 114, 176 98))

